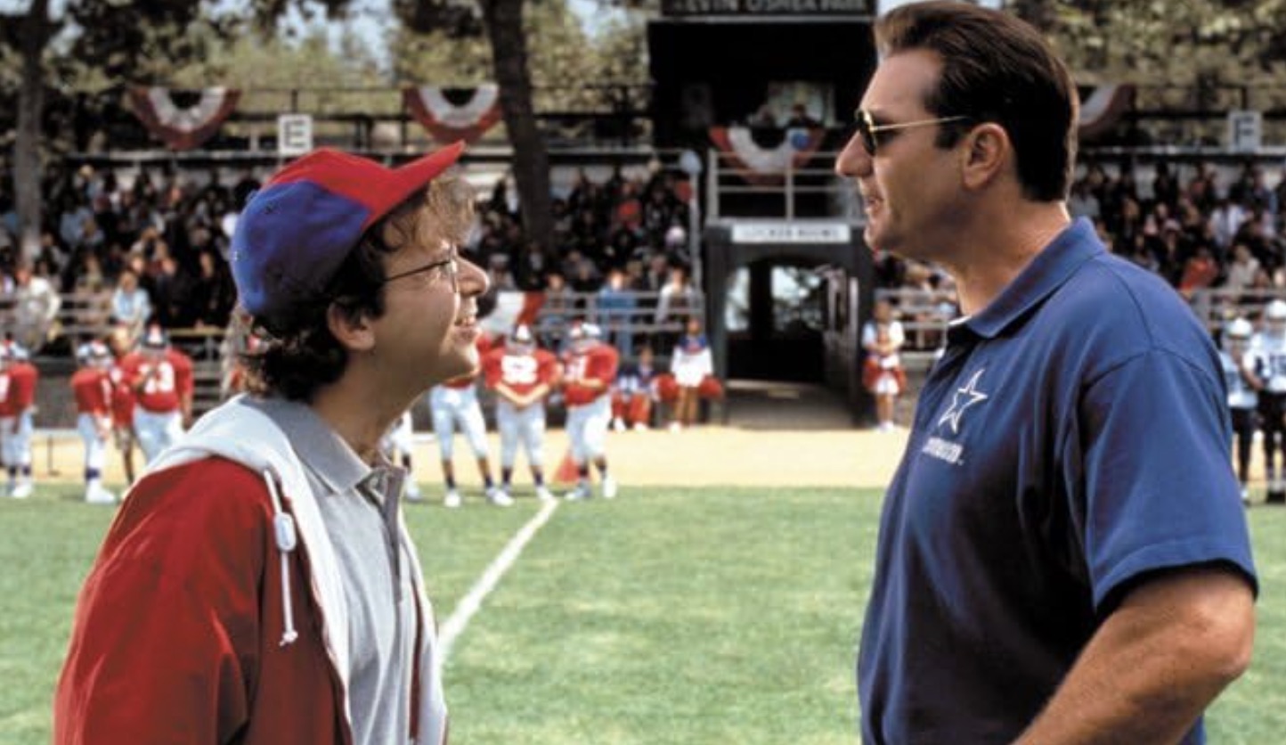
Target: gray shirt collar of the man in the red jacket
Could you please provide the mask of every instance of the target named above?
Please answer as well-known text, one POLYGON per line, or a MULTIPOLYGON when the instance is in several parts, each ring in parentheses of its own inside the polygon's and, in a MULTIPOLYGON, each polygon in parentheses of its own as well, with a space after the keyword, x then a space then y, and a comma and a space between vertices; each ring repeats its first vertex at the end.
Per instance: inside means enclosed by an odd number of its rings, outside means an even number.
POLYGON ((332 494, 352 492, 370 475, 370 466, 307 404, 283 399, 255 403, 276 422, 303 467, 332 494))

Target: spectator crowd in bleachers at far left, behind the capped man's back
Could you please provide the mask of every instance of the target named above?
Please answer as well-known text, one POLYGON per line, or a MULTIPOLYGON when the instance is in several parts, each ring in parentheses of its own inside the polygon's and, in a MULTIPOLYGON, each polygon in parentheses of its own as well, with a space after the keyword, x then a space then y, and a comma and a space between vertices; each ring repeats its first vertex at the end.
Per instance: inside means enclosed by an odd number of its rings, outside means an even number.
MULTIPOLYGON (((58 295, 102 299, 104 320, 132 332, 224 328, 235 290, 224 259, 238 206, 258 187, 247 172, 222 184, 143 171, 122 184, 111 170, 51 167, 44 180, 40 252, 23 259, 8 169, 0 174, 0 297, 21 308, 39 283, 58 295)), ((87 319, 86 319, 87 320, 87 319)), ((28 345, 53 331, 32 329, 28 345)))

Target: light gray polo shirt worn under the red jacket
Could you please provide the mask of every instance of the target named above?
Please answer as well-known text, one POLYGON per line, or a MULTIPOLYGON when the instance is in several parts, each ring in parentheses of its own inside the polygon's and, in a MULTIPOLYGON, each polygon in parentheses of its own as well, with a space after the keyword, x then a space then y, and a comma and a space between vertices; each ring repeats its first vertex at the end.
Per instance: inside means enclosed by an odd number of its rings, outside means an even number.
POLYGON ((410 555, 397 530, 406 472, 363 463, 306 404, 244 400, 291 440, 334 546, 349 606, 354 745, 406 742, 417 618, 410 555))

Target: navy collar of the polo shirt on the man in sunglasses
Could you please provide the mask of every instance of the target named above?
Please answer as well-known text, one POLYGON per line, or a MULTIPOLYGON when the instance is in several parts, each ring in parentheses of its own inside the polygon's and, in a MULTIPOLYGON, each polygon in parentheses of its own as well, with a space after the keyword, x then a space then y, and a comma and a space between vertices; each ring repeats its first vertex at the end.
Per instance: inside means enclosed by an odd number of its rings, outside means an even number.
POLYGON ((995 337, 1053 295, 1082 264, 1106 251, 1093 223, 1076 217, 986 308, 953 324, 948 335, 967 329, 983 338, 995 337))

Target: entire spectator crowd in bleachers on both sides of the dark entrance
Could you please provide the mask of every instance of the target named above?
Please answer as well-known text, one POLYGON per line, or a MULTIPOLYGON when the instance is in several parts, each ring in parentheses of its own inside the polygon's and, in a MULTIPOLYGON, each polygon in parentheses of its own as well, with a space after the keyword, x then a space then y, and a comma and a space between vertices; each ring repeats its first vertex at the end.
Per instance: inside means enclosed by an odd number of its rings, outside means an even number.
MULTIPOLYGON (((66 293, 104 297, 104 317, 131 329, 221 329, 235 302, 229 235, 258 185, 251 170, 225 183, 219 170, 143 169, 126 184, 112 170, 53 167, 41 251, 27 262, 17 248, 12 178, 0 167, 0 297, 31 319, 19 331, 36 347, 46 331, 40 319, 53 318, 66 293)), ((523 320, 536 323, 548 346, 557 346, 571 317, 593 310, 630 355, 639 342, 656 342, 625 328, 626 318, 638 318, 639 297, 655 305, 647 310, 657 323, 682 327, 700 309, 688 253, 691 189, 657 162, 629 175, 616 167, 602 180, 581 170, 556 192, 554 242, 543 246, 523 233, 507 176, 478 202, 473 253, 498 291, 525 295, 523 320)), ((1271 181, 1256 162, 1238 172, 1205 162, 1088 161, 1069 199, 1073 215, 1093 220, 1112 251, 1188 296, 1206 287, 1286 288, 1283 203, 1286 179, 1271 181)), ((916 309, 910 320, 953 311, 950 281, 932 266, 882 256, 877 282, 900 288, 916 309)), ((667 341, 660 340, 662 353, 667 341)))

